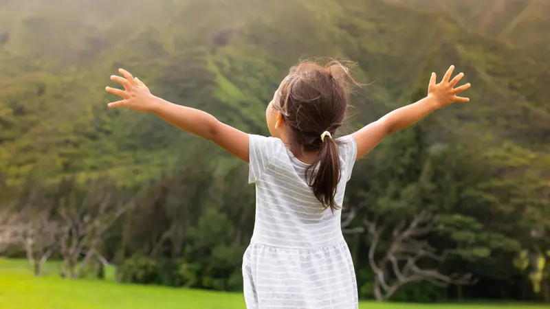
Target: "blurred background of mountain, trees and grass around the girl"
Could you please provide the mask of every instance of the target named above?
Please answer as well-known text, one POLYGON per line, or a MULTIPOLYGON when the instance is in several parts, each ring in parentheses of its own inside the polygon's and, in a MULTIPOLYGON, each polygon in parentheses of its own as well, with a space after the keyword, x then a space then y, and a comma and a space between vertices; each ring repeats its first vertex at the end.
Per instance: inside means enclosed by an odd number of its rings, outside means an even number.
POLYGON ((279 82, 313 56, 356 61, 369 83, 341 134, 423 98, 432 71, 455 65, 472 84, 469 103, 355 165, 342 226, 361 308, 549 306, 549 12, 547 0, 0 0, 0 308, 245 308, 248 166, 108 109, 104 87, 122 67, 267 135, 279 82))

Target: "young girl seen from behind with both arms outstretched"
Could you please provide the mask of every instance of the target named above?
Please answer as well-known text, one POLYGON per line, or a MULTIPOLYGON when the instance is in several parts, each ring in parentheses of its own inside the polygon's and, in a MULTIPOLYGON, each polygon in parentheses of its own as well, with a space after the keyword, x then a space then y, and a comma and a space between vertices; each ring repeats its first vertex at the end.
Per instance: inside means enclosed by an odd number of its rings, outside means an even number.
POLYGON ((335 139, 349 104, 349 82, 339 62, 302 62, 290 69, 267 105, 272 137, 249 135, 212 115, 152 95, 130 73, 111 76, 124 91, 107 87, 123 100, 111 107, 155 113, 170 124, 225 148, 250 163, 256 185, 256 222, 243 256, 248 308, 358 308, 353 262, 342 231, 340 211, 355 161, 389 134, 406 128, 452 102, 463 73, 450 80, 450 67, 428 95, 361 130, 335 139))

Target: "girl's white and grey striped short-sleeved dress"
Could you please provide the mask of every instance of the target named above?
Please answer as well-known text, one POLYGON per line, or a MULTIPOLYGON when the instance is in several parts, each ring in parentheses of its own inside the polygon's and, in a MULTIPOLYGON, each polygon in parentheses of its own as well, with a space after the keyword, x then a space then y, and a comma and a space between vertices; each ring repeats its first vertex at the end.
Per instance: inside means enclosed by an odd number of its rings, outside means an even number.
MULTIPOLYGON (((305 181, 309 166, 281 139, 250 135, 249 182, 256 184, 256 222, 243 256, 246 306, 264 308, 358 308, 353 262, 340 227, 341 211, 331 213, 305 181)), ((342 205, 357 146, 338 139, 342 205)))

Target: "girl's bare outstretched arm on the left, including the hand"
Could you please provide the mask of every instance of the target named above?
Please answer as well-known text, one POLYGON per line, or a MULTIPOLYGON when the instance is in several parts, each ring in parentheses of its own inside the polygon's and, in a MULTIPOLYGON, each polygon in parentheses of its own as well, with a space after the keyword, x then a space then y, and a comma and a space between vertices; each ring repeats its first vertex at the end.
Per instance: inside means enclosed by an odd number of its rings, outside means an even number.
POLYGON ((119 82, 124 91, 107 87, 109 93, 120 96, 123 100, 109 103, 109 107, 127 107, 134 111, 154 113, 164 121, 199 135, 203 139, 213 141, 221 148, 228 150, 235 157, 248 162, 248 134, 218 121, 209 113, 170 103, 152 95, 143 82, 123 70, 119 70, 124 78, 111 76, 111 80, 119 82))

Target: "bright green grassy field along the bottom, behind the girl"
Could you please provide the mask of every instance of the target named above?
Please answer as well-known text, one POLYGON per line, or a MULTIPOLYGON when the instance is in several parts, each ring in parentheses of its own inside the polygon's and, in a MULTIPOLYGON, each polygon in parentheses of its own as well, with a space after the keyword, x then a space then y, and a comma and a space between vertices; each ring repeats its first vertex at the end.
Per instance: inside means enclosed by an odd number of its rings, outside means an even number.
MULTIPOLYGON (((112 280, 66 280, 55 275, 56 266, 48 264, 45 276, 33 277, 23 261, 0 260, 1 309, 245 309, 243 296, 182 288, 117 284, 112 280), (50 275, 48 275, 50 274, 50 275)), ((112 275, 112 272, 107 273, 112 275)), ((364 302, 360 308, 384 309, 492 309, 505 305, 419 305, 377 304, 364 302)), ((519 306, 514 309, 538 309, 542 306, 519 306)), ((546 307, 547 308, 547 307, 546 307)))

